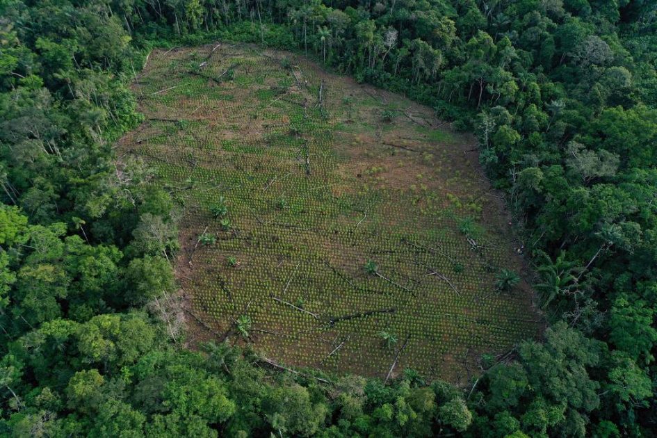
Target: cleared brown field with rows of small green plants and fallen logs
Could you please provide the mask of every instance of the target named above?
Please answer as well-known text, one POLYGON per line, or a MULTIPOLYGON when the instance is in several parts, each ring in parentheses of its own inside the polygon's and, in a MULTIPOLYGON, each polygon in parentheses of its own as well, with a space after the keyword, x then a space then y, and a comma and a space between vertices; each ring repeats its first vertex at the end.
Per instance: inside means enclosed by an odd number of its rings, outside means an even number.
POLYGON ((133 89, 147 120, 119 147, 181 204, 200 339, 248 315, 284 364, 464 382, 540 331, 526 282, 494 287, 523 266, 475 140, 430 108, 242 44, 156 50, 133 89))

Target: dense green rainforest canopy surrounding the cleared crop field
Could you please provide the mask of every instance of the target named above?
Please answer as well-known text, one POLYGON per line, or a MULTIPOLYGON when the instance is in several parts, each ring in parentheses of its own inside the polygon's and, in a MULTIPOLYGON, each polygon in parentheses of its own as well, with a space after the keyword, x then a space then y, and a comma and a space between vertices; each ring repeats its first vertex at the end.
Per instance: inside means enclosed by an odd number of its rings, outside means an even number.
POLYGON ((656 67, 651 0, 0 0, 0 435, 654 436, 656 67), (175 202, 112 145, 149 50, 217 40, 295 48, 475 132, 543 339, 466 388, 185 348, 175 202))

